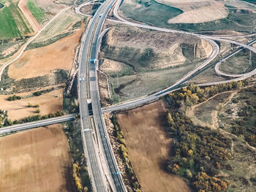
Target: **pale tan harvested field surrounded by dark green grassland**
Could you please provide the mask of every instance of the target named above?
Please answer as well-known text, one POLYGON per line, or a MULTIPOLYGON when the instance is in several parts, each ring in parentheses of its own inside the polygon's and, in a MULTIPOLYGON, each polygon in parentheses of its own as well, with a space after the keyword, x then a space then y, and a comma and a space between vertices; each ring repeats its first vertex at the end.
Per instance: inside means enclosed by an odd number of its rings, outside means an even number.
POLYGON ((168 23, 204 23, 227 18, 225 4, 215 0, 157 0, 159 3, 182 9, 184 12, 168 23))

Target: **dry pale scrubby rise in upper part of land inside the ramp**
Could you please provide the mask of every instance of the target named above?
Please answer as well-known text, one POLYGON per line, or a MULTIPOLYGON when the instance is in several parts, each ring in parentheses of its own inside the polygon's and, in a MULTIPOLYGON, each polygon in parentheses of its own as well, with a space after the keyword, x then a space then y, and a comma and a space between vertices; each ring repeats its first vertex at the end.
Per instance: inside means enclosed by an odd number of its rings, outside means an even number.
MULTIPOLYGON (((184 34, 159 33, 134 27, 116 27, 110 29, 106 35, 106 46, 102 48, 102 53, 108 57, 116 55, 116 60, 124 60, 122 53, 134 52, 143 53, 147 48, 151 48, 157 59, 154 61, 144 61, 150 68, 167 68, 178 66, 188 62, 195 62, 211 55, 211 45, 203 39, 184 34), (138 49, 140 47, 140 49, 138 49), (113 49, 111 52, 110 49, 113 49)), ((129 58, 127 58, 128 60, 129 58)), ((130 61, 135 63, 136 60, 130 61)), ((136 64, 133 64, 136 66, 136 64)))

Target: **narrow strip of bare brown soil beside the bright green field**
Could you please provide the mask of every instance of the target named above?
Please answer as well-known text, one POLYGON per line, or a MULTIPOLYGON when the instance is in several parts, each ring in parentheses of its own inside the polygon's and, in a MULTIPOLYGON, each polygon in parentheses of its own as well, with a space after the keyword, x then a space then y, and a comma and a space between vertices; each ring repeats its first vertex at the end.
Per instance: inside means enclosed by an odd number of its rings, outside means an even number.
POLYGON ((28 7, 26 7, 27 0, 20 0, 18 7, 21 9, 26 19, 29 20, 29 23, 33 27, 34 31, 39 31, 42 26, 37 22, 32 13, 29 11, 28 7))

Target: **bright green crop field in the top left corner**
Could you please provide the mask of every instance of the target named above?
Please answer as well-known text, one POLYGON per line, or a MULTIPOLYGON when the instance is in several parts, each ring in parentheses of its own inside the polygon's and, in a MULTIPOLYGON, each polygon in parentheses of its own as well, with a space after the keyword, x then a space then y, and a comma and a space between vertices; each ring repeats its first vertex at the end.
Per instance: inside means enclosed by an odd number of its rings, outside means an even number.
POLYGON ((8 5, 0 9, 0 39, 22 37, 33 31, 15 2, 1 0, 1 3, 8 5))

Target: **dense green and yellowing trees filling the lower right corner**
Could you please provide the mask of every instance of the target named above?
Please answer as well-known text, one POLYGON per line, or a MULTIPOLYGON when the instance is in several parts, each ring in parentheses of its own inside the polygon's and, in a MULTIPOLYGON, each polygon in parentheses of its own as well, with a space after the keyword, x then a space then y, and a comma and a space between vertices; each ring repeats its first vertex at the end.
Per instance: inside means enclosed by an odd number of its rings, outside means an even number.
MULTIPOLYGON (((241 89, 247 85, 247 81, 230 82, 206 88, 189 85, 187 88, 182 88, 165 96, 169 108, 167 112, 169 128, 167 128, 167 131, 174 139, 175 144, 175 155, 167 161, 166 169, 172 174, 179 174, 186 178, 196 191, 228 191, 231 188, 232 191, 240 191, 241 188, 252 191, 248 183, 252 182, 252 185, 255 185, 253 184, 255 169, 246 176, 251 180, 249 181, 248 178, 242 176, 242 172, 238 172, 238 169, 241 168, 236 168, 236 166, 242 166, 243 169, 249 169, 248 166, 252 164, 252 159, 256 155, 255 152, 244 145, 243 142, 239 142, 236 137, 225 134, 222 129, 195 125, 194 121, 186 115, 189 107, 195 104, 204 104, 205 101, 208 102, 208 98, 217 95, 217 93, 236 90, 241 90, 241 93, 254 91, 252 88, 246 88, 244 91, 241 89), (234 145, 239 146, 238 149, 235 150, 234 145), (241 151, 242 148, 244 153, 241 151), (241 159, 236 156, 238 153, 240 153, 240 158, 241 156, 248 156, 247 164, 244 164, 244 166, 241 159), (239 184, 236 185, 237 180, 239 180, 239 184)), ((217 96, 215 98, 217 99, 217 96)), ((209 107, 209 104, 206 103, 206 107, 209 107)), ((252 120, 254 119, 252 112, 253 107, 246 106, 244 110, 241 110, 241 117, 252 120)), ((197 117, 202 115, 206 115, 205 112, 201 111, 197 117)), ((225 116, 223 118, 227 119, 225 116)), ((253 145, 255 143, 254 125, 250 124, 248 129, 246 127, 241 128, 240 124, 236 126, 235 122, 239 123, 241 121, 230 121, 229 119, 228 123, 227 121, 225 123, 231 124, 233 134, 244 134, 243 137, 248 138, 248 142, 253 145)))

